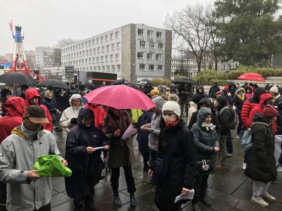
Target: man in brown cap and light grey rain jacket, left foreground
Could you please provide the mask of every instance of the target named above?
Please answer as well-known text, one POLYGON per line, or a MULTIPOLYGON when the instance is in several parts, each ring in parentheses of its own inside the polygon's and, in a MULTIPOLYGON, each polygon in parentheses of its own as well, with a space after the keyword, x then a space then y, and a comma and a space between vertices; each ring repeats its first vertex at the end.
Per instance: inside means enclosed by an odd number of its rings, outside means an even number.
POLYGON ((42 126, 48 122, 44 109, 31 105, 24 112, 23 124, 0 145, 0 181, 7 183, 8 211, 51 211, 51 178, 32 170, 39 156, 60 155, 55 137, 42 126))

